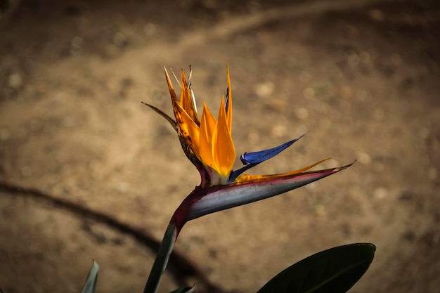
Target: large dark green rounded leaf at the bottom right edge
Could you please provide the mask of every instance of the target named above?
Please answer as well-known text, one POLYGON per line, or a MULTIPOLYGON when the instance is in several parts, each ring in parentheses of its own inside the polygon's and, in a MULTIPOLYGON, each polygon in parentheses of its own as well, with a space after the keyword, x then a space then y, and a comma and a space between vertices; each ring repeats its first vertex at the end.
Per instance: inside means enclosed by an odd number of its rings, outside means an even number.
POLYGON ((334 247, 295 263, 258 293, 344 293, 367 271, 376 247, 356 243, 334 247))

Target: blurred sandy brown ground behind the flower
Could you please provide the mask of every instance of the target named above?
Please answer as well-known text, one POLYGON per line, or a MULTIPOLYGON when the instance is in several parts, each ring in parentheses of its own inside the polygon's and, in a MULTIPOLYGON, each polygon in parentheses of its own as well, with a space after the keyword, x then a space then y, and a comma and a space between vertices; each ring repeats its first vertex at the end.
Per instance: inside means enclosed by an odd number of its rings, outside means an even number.
MULTIPOLYGON (((310 254, 373 242, 351 292, 439 292, 440 5, 353 2, 23 0, 3 13, 1 289, 79 292, 96 259, 98 292, 141 292, 154 249, 102 215, 160 240, 199 178, 140 102, 171 113, 163 66, 192 65, 199 104, 216 109, 228 63, 238 154, 311 131, 253 174, 358 161, 192 221, 176 251, 247 293, 310 254)), ((167 274, 160 292, 177 283, 167 274)))

